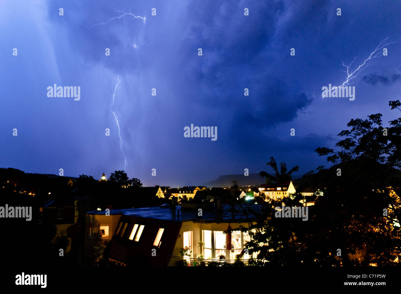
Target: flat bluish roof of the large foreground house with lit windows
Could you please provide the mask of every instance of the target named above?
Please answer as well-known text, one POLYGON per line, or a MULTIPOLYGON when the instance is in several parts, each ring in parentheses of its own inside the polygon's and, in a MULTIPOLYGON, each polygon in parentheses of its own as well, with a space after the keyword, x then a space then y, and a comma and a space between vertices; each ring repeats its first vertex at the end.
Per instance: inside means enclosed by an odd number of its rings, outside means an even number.
MULTIPOLYGON (((147 219, 160 219, 173 222, 184 222, 184 221, 201 221, 209 222, 216 221, 219 222, 244 222, 249 219, 255 219, 255 215, 249 213, 249 217, 243 213, 246 209, 253 209, 255 211, 260 210, 260 205, 246 203, 240 205, 235 205, 235 213, 233 214, 231 210, 231 205, 223 204, 223 212, 217 213, 214 211, 203 210, 203 216, 198 216, 197 209, 184 209, 181 210, 181 206, 177 206, 175 213, 169 207, 144 207, 144 208, 132 208, 132 209, 112 209, 110 210, 110 215, 126 215, 133 217, 142 217, 147 219), (177 216, 179 212, 179 216, 177 216)), ((91 211, 87 214, 91 215, 104 215, 104 211, 91 211)))

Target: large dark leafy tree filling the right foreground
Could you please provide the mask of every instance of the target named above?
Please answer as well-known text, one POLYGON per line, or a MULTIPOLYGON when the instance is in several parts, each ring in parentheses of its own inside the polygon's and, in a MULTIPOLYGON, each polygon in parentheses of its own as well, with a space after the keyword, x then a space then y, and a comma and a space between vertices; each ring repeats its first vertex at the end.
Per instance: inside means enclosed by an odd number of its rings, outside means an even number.
MULTIPOLYGON (((389 104, 401 110, 401 103, 389 104)), ((261 264, 264 259, 269 265, 389 266, 395 265, 397 258, 401 260, 401 198, 397 189, 401 119, 383 128, 381 114, 373 114, 367 120, 351 120, 348 127, 350 130, 338 134, 346 137, 336 144, 339 150, 316 149, 335 165, 328 169, 320 166, 317 173, 311 171, 302 179, 306 187, 324 191, 324 195, 314 196, 315 205, 307 207, 308 221, 275 216, 275 207, 300 207, 306 201, 296 193, 267 199, 261 212, 254 212, 256 222, 240 228, 252 236, 245 244, 249 254, 256 255, 250 264, 261 264)), ((275 166, 271 159, 268 165, 275 166)), ((273 169, 276 176, 270 180, 288 180, 286 171, 273 169)), ((302 191, 302 187, 297 190, 302 191)))

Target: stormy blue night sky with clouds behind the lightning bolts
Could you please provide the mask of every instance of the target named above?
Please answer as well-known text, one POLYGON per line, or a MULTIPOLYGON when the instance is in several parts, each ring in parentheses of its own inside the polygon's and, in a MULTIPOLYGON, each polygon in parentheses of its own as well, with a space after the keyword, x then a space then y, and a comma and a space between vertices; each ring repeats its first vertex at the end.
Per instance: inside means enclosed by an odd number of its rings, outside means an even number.
POLYGON ((330 166, 314 150, 350 119, 398 117, 401 40, 352 80, 354 101, 321 90, 401 37, 398 1, 3 0, 0 15, 0 167, 95 179, 125 168, 182 187, 271 172, 274 156, 303 174, 330 166), (80 86, 80 100, 47 97, 54 84, 80 86), (184 138, 191 124, 217 126, 217 140, 184 138))

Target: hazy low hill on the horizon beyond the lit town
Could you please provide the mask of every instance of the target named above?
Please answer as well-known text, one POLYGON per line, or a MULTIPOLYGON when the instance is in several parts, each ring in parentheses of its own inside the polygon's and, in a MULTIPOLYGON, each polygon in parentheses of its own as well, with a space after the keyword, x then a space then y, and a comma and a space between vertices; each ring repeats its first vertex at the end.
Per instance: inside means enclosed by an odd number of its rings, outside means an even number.
MULTIPOLYGON (((293 179, 301 178, 302 176, 294 175, 293 179)), ((205 182, 203 186, 213 188, 213 187, 231 187, 233 185, 233 180, 237 180, 239 186, 259 186, 265 184, 266 178, 259 176, 259 174, 249 174, 249 176, 244 176, 244 174, 226 174, 224 176, 219 176, 216 180, 205 182)))

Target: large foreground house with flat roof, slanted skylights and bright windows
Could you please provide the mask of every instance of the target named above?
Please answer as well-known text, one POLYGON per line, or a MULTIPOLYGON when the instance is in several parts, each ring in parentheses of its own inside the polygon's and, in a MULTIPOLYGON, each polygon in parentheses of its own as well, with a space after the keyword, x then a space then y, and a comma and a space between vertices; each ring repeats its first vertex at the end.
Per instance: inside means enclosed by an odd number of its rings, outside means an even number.
MULTIPOLYGON (((108 265, 174 266, 183 261, 180 251, 188 246, 185 259, 191 265, 200 255, 209 262, 233 261, 250 236, 247 232, 224 231, 240 225, 248 227, 255 221, 255 216, 247 215, 247 208, 260 209, 250 203, 231 211, 231 205, 218 201, 216 211, 204 210, 201 216, 196 208, 174 205, 115 209, 108 216, 105 211, 91 211, 86 215, 85 255, 92 264, 101 260, 102 254, 108 265), (230 239, 231 244, 227 243, 230 239), (199 241, 205 245, 199 247, 199 241)), ((249 259, 249 255, 243 259, 249 259)))

